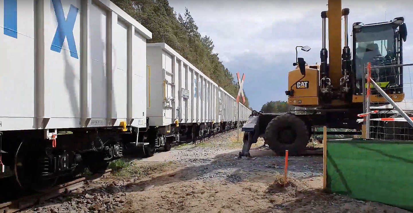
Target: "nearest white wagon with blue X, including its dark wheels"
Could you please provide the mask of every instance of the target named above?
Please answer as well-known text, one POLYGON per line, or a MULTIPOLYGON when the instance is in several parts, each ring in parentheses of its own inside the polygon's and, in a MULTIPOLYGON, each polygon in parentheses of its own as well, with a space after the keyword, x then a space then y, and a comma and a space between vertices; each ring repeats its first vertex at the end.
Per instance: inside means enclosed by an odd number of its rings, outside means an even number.
POLYGON ((41 190, 79 164, 104 171, 120 133, 146 126, 152 33, 109 0, 0 5, 1 177, 41 190))

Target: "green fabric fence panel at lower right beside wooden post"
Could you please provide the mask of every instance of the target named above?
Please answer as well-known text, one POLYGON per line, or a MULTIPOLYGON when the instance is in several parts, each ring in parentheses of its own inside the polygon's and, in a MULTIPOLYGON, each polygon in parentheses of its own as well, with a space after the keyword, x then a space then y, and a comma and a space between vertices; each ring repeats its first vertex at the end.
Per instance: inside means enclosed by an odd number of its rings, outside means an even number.
POLYGON ((327 189, 413 211, 413 142, 328 140, 327 189))

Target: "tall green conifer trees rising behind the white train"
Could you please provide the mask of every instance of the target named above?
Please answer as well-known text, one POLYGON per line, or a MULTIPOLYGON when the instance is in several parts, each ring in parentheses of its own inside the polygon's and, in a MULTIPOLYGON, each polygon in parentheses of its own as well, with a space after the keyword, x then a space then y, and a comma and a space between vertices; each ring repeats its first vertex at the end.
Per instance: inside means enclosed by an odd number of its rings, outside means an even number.
MULTIPOLYGON (((198 26, 188 8, 177 14, 168 0, 112 0, 118 7, 152 32, 149 43, 165 42, 187 59, 219 87, 232 96, 238 94, 238 84, 232 73, 214 53, 214 42, 198 32, 198 26)), ((244 93, 245 94, 245 93, 244 93)), ((249 107, 245 96, 246 107, 249 107)))

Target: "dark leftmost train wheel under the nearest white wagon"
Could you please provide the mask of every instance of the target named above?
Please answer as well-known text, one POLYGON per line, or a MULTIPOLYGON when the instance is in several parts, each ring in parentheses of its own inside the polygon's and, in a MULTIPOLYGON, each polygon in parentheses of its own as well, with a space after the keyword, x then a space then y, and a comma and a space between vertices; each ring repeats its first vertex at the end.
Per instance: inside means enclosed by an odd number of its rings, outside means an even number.
POLYGON ((39 141, 23 141, 14 156, 14 175, 24 190, 43 192, 54 186, 57 177, 48 175, 52 168, 46 147, 39 141), (37 143, 36 143, 37 142, 37 143))

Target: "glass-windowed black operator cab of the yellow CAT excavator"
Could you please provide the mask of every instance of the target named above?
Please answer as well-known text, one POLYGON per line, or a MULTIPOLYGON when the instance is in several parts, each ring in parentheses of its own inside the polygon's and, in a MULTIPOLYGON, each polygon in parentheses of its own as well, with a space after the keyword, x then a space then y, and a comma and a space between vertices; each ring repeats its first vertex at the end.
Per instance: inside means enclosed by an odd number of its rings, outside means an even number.
MULTIPOLYGON (((354 76, 353 102, 363 100, 363 77, 367 63, 371 63, 371 77, 394 101, 403 101, 403 67, 374 68, 375 66, 397 65, 403 63, 403 42, 406 41, 407 28, 403 17, 389 22, 353 24, 354 76), (358 97, 357 97, 358 96, 358 97)), ((372 98, 382 102, 379 93, 371 86, 372 98)), ((374 100, 372 100, 374 101, 374 100)))

